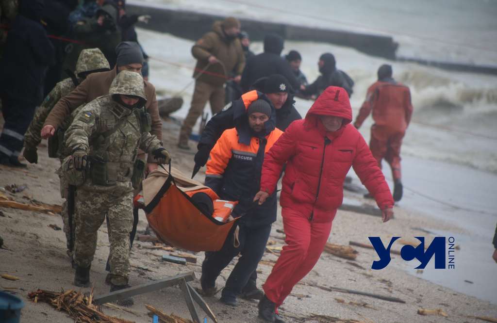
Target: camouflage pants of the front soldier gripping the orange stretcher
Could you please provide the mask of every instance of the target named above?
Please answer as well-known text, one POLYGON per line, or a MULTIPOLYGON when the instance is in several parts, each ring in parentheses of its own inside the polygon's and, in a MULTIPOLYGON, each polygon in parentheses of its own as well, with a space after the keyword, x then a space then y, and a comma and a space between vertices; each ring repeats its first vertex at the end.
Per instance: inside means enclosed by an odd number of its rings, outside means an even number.
POLYGON ((97 231, 107 215, 110 282, 114 285, 126 285, 130 271, 129 234, 133 227, 133 192, 128 189, 122 194, 117 194, 118 191, 94 192, 78 189, 74 260, 80 267, 91 265, 96 249, 97 231))

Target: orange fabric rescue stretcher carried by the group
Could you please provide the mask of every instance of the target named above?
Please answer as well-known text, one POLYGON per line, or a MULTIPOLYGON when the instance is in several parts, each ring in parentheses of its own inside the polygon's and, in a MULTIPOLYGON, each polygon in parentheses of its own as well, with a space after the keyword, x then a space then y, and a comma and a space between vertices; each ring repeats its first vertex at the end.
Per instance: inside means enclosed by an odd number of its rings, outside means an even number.
MULTIPOLYGON (((200 182, 189 179, 174 167, 158 168, 143 181, 143 209, 157 237, 190 251, 218 251, 237 219, 231 211, 237 202, 219 200, 217 194, 200 182), (195 192, 209 195, 214 213, 202 213, 190 196, 195 192)), ((233 230, 232 230, 233 229, 233 230)))

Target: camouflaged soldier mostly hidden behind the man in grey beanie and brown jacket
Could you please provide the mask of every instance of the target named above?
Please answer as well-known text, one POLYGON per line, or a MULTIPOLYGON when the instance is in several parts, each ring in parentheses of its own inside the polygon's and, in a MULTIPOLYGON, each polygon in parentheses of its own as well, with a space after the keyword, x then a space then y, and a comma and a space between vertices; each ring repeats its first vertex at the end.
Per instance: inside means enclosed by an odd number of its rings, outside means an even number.
MULTIPOLYGON (((24 151, 22 155, 30 163, 38 163, 38 154, 36 147, 41 142, 40 131, 45 123, 50 111, 62 97, 69 94, 80 82, 82 82, 87 75, 95 72, 110 71, 109 63, 103 56, 103 53, 98 48, 84 49, 78 59, 78 64, 76 65, 76 71, 73 78, 68 78, 60 81, 55 85, 54 89, 47 95, 41 106, 36 110, 33 121, 29 125, 29 128, 24 135, 24 151)), ((76 115, 74 113, 73 115, 76 115)), ((67 157, 67 152, 63 152, 62 149, 62 137, 64 135, 64 130, 69 127, 73 119, 68 117, 64 124, 58 129, 58 133, 53 138, 59 139, 61 145, 55 140, 49 140, 49 153, 50 157, 59 157, 61 163, 64 158, 67 157), (51 147, 55 146, 55 147, 51 147)), ((70 153, 70 152, 69 152, 70 153)), ((60 172, 60 171, 59 171, 60 172)), ((64 180, 63 176, 60 177, 60 187, 61 187, 61 197, 67 199, 68 194, 68 183, 64 180)), ((69 226, 69 216, 68 216, 68 205, 67 201, 64 201, 62 205, 62 220, 64 222, 64 233, 66 234, 66 241, 68 247, 68 255, 72 257, 72 241, 74 241, 74 236, 71 237, 71 231, 69 226)), ((73 222, 73 233, 74 233, 74 221, 73 222)))

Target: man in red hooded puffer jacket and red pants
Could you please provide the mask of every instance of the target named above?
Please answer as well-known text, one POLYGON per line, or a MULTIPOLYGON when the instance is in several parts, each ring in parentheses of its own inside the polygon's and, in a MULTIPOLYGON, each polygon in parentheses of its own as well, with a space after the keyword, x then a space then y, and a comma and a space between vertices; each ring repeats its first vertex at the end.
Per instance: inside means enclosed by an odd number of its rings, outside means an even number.
POLYGON ((286 163, 280 204, 287 243, 263 286, 259 317, 266 322, 280 321, 275 311, 318 261, 351 166, 374 195, 383 222, 393 216, 394 201, 385 177, 351 121, 347 92, 329 86, 306 118, 294 121, 266 154, 254 201, 263 203, 273 193, 286 163))

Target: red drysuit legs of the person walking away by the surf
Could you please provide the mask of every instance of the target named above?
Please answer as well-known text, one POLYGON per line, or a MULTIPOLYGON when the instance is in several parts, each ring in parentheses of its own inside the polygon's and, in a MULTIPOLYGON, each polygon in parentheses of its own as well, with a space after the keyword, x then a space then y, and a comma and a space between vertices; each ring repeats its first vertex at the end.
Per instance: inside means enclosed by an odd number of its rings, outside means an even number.
POLYGON ((373 125, 371 127, 369 149, 380 168, 382 159, 389 163, 394 180, 401 179, 401 146, 404 134, 405 131, 388 126, 373 125))

